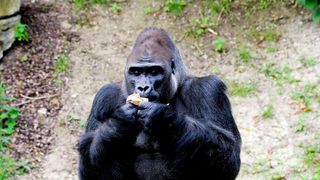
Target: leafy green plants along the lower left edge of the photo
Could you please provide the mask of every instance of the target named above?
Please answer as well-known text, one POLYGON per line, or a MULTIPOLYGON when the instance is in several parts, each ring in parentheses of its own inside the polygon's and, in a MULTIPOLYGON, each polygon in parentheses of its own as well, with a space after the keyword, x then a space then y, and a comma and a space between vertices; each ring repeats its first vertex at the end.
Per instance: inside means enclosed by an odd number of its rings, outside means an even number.
POLYGON ((7 145, 11 140, 10 135, 14 132, 19 116, 18 109, 8 105, 11 99, 6 96, 5 86, 0 83, 0 180, 30 170, 28 161, 17 162, 10 156, 5 155, 7 145))

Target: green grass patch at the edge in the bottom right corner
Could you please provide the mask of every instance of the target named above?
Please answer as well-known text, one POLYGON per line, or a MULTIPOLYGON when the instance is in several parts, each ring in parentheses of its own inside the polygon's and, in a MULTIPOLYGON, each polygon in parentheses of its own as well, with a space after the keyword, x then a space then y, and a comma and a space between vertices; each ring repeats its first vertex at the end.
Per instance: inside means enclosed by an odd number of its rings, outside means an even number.
POLYGON ((320 144, 307 148, 304 161, 313 172, 312 179, 320 179, 320 144))

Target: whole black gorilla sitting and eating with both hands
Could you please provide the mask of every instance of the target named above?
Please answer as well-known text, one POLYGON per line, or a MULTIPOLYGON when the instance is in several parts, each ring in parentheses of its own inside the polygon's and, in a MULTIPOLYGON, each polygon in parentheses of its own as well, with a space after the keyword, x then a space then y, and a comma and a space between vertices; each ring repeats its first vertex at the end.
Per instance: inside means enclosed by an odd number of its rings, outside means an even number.
POLYGON ((145 29, 125 80, 97 93, 79 141, 82 180, 235 179, 241 138, 216 76, 187 73, 162 29, 145 29), (126 102, 138 93, 149 102, 126 102))

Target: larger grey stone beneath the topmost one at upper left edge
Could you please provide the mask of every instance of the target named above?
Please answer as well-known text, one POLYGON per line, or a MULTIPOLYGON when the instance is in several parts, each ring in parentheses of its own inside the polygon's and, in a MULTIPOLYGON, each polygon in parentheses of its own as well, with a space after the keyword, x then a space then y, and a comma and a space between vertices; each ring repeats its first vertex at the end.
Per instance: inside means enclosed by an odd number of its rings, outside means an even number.
POLYGON ((20 15, 16 15, 7 19, 0 19, 0 59, 3 51, 9 49, 15 40, 15 26, 20 22, 20 15))

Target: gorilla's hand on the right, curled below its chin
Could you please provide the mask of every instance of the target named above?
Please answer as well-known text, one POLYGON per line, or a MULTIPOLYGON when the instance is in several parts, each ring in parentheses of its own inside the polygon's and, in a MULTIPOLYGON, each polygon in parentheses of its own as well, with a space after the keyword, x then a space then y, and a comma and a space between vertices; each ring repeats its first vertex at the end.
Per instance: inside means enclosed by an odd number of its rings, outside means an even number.
POLYGON ((143 101, 139 105, 137 113, 138 121, 145 129, 153 129, 162 120, 165 111, 168 109, 166 104, 143 101))

